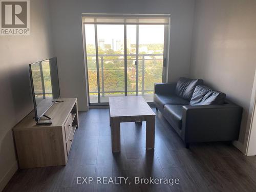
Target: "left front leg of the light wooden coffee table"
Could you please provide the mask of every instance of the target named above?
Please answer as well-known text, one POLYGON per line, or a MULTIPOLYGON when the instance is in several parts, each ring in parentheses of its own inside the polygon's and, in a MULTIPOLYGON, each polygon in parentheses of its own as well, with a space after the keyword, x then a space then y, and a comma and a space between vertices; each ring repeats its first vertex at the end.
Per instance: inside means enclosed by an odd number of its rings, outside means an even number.
POLYGON ((112 152, 120 152, 120 122, 118 118, 111 118, 112 152))

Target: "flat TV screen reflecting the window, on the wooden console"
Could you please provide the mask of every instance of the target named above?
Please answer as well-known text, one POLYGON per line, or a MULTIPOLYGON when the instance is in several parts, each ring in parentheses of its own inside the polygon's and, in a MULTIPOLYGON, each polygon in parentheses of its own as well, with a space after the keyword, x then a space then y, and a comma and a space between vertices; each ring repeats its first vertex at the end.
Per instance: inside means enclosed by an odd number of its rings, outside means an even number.
POLYGON ((35 120, 38 121, 60 97, 57 58, 29 65, 35 120))

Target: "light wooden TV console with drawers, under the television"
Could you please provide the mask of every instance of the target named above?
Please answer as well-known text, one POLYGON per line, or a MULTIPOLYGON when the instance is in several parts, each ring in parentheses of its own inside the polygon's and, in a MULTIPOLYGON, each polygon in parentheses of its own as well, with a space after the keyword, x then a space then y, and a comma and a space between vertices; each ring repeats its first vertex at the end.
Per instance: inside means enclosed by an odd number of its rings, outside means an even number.
MULTIPOLYGON (((46 112, 53 120, 36 125, 34 111, 13 129, 19 168, 66 165, 78 127, 77 99, 59 99, 46 112)), ((44 117, 42 117, 44 118, 44 117)))

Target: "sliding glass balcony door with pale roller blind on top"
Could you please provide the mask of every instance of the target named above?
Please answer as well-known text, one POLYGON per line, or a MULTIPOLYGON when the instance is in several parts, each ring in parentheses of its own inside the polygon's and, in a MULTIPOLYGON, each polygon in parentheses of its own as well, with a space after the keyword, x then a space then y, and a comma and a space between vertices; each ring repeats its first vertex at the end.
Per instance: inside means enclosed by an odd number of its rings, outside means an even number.
POLYGON ((83 18, 90 105, 132 95, 152 102, 154 83, 166 78, 169 20, 164 18, 162 24, 156 18, 136 17, 129 23, 127 15, 105 17, 83 18))

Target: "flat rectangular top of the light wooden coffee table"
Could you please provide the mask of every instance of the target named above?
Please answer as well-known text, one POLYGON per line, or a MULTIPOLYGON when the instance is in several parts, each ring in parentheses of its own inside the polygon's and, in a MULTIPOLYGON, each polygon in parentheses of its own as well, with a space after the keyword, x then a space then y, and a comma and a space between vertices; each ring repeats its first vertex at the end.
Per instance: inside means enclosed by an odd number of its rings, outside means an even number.
POLYGON ((156 115, 142 96, 110 97, 111 117, 156 115))

